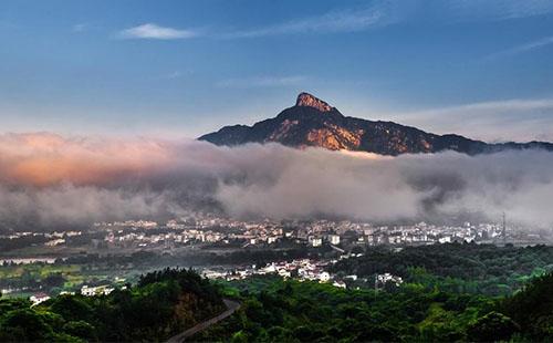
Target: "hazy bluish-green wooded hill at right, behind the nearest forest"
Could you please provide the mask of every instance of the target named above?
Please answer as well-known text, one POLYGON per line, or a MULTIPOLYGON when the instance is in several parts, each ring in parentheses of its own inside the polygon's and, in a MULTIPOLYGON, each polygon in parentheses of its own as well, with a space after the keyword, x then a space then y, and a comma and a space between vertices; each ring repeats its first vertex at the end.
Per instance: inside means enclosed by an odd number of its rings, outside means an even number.
POLYGON ((390 272, 408 282, 456 293, 509 295, 530 279, 553 271, 553 247, 446 243, 390 249, 371 247, 332 266, 362 278, 390 272))

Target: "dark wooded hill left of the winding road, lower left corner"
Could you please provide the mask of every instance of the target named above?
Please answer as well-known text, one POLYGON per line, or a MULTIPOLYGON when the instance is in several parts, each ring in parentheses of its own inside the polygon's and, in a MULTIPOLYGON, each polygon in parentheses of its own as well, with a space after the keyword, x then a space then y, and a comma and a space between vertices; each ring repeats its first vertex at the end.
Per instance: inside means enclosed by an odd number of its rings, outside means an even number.
POLYGON ((165 269, 108 295, 64 294, 36 306, 25 299, 0 299, 0 341, 163 341, 223 310, 207 279, 165 269))

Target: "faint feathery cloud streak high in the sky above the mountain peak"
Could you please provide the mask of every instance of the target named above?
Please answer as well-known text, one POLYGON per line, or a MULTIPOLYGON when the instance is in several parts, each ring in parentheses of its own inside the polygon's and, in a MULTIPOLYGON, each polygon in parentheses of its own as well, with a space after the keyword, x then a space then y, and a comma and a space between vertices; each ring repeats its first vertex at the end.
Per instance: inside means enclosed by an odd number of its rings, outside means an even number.
POLYGON ((293 33, 355 32, 398 21, 399 2, 375 1, 362 9, 344 9, 251 30, 221 34, 222 38, 257 38, 293 33))

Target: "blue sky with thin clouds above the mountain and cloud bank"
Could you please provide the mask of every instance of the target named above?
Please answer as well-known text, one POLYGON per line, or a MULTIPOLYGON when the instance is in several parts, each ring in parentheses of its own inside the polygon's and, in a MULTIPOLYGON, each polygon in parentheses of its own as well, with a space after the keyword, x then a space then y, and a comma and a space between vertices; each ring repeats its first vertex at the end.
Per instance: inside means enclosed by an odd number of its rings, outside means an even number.
POLYGON ((553 1, 0 2, 2 132, 195 137, 301 91, 345 115, 553 141, 553 1))

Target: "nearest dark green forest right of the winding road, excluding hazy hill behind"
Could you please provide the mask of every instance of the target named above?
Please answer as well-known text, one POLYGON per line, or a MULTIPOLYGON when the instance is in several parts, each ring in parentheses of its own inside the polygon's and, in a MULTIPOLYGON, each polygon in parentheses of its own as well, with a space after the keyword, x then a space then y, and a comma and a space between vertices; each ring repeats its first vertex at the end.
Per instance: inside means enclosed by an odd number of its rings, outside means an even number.
POLYGON ((553 340, 553 274, 509 298, 405 283, 389 291, 262 277, 227 289, 239 313, 199 333, 217 342, 492 342, 553 340))

